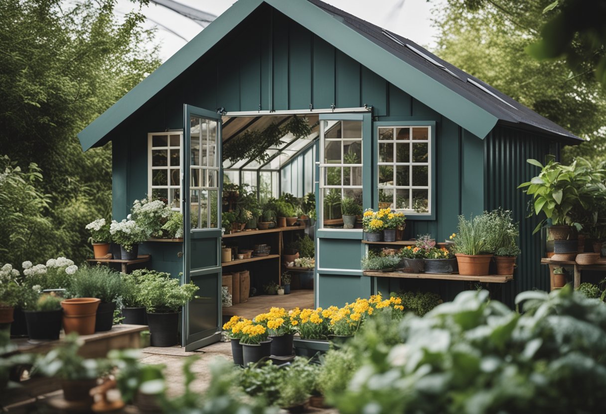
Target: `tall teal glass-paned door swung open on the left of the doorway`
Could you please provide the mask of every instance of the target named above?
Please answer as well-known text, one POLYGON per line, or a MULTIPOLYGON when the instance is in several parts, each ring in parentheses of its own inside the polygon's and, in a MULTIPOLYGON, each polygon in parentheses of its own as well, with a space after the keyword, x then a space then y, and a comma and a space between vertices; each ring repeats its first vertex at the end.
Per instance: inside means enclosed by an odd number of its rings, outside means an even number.
POLYGON ((184 107, 183 281, 200 287, 183 309, 190 351, 221 339, 221 114, 184 107))

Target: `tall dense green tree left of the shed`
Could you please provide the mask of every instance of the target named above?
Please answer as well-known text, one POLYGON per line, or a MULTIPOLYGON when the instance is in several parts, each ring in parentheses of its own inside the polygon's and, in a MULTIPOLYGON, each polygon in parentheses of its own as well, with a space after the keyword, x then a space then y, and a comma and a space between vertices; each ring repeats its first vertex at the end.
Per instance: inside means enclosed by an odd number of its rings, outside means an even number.
POLYGON ((110 213, 112 196, 110 145, 82 153, 76 134, 159 65, 140 7, 120 19, 114 7, 0 0, 0 153, 42 171, 42 214, 65 232, 56 251, 75 261, 88 252, 84 225, 110 213))

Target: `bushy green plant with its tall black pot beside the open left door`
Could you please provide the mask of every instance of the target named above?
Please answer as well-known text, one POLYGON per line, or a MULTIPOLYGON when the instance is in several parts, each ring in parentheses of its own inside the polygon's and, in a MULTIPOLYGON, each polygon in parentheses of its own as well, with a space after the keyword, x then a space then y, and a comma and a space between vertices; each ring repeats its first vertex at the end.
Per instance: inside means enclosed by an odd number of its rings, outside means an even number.
POLYGON ((178 326, 181 307, 193 300, 199 287, 179 285, 176 278, 148 272, 140 283, 141 300, 147 312, 151 346, 167 347, 179 343, 178 326))

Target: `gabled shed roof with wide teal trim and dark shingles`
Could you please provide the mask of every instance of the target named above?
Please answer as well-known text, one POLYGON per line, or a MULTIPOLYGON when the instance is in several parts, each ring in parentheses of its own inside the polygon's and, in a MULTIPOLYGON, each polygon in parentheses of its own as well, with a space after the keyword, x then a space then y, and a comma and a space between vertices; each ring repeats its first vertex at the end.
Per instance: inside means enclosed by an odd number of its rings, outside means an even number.
POLYGON ((501 121, 580 140, 479 79, 401 36, 319 0, 239 0, 150 76, 105 111, 78 138, 88 150, 194 64, 263 2, 478 137, 501 121))

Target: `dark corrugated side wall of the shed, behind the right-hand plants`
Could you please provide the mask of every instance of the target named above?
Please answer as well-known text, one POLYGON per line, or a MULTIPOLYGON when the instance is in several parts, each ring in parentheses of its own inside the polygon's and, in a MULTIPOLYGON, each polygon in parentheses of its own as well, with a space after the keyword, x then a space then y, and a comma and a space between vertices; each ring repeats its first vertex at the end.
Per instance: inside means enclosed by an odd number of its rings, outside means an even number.
POLYGON ((484 142, 485 208, 509 209, 519 222, 522 254, 518 257, 513 283, 503 287, 503 300, 510 306, 519 292, 549 290, 547 266, 540 264, 544 254, 541 234, 532 234, 539 219, 534 215, 527 217, 530 197, 517 187, 538 174, 538 168, 526 160, 533 158, 542 162, 550 152, 550 143, 545 137, 505 127, 494 128, 484 142))

